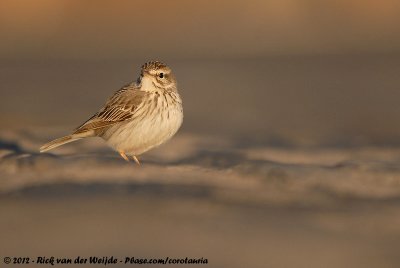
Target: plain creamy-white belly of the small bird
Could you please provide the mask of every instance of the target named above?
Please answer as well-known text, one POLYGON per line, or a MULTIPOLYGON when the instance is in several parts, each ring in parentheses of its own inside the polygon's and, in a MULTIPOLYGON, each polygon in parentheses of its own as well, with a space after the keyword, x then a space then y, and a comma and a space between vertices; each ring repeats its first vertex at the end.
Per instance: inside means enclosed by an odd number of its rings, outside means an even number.
POLYGON ((182 107, 116 124, 102 136, 108 145, 127 155, 140 155, 170 139, 183 121, 182 107))

